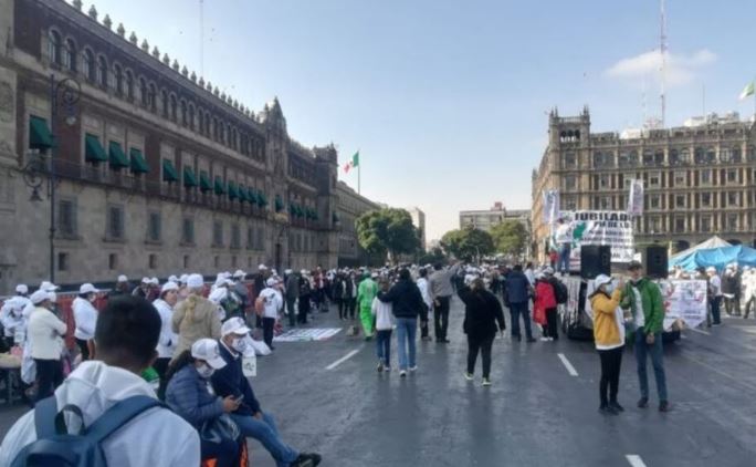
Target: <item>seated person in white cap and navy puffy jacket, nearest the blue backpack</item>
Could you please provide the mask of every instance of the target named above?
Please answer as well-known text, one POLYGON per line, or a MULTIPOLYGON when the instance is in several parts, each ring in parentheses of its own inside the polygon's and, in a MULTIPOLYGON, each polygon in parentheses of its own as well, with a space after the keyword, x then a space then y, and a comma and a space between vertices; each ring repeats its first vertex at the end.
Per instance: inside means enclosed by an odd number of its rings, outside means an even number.
MULTIPOLYGON (((217 341, 200 339, 195 342, 170 367, 166 404, 198 430, 233 412, 241 401, 219 397, 208 391, 212 374, 224 366, 217 341)), ((203 460, 214 458, 218 467, 239 465, 238 439, 220 438, 216 443, 200 439, 200 445, 203 460)))

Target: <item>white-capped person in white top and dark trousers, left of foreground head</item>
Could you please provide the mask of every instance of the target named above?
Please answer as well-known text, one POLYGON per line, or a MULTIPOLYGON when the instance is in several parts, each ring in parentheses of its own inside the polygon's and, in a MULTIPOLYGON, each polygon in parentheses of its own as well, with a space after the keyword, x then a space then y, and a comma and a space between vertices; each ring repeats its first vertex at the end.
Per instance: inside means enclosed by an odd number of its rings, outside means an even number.
POLYGON ((63 336, 67 326, 52 312, 53 293, 38 290, 30 300, 34 311, 29 316, 27 332, 31 345, 31 356, 36 365, 36 401, 52 395, 55 387, 63 382, 63 336))

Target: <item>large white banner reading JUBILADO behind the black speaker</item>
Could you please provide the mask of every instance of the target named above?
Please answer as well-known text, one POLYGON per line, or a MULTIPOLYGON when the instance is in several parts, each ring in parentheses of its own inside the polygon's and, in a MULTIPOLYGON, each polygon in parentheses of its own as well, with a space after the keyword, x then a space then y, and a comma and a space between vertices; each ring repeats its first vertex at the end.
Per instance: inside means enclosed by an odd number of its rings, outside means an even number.
POLYGON ((632 218, 628 212, 579 210, 568 217, 573 230, 570 270, 580 270, 580 246, 582 245, 608 245, 611 247, 611 262, 632 261, 632 218))

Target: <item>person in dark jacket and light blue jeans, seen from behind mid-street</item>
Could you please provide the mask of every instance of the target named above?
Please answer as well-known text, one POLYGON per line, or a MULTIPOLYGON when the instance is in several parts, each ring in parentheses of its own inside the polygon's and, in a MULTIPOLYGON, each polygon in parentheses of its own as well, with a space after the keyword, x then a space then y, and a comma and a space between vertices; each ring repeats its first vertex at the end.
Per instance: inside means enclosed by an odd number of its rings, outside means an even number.
POLYGON ((403 268, 399 271, 399 281, 388 292, 378 292, 378 300, 392 304, 392 312, 397 319, 399 375, 407 376, 407 370, 410 372, 418 370, 414 341, 418 332, 418 315, 423 305, 420 289, 412 282, 409 269, 403 268))

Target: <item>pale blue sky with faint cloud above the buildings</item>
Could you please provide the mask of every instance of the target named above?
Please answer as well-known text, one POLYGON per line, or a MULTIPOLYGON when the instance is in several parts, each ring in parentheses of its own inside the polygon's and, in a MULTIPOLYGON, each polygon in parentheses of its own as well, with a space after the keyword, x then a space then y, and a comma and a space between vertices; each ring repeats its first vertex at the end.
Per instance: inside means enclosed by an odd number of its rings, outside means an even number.
MULTIPOLYGON (((95 4, 199 73, 199 0, 95 4)), ((666 9, 668 125, 702 113, 704 85, 707 112, 749 116, 756 2, 666 9)), ((363 194, 419 206, 430 240, 461 209, 529 207, 552 106, 622 129, 645 87, 659 114, 658 38, 658 0, 204 0, 203 75, 255 110, 277 96, 290 134, 333 141, 342 165, 359 149, 363 194)))

